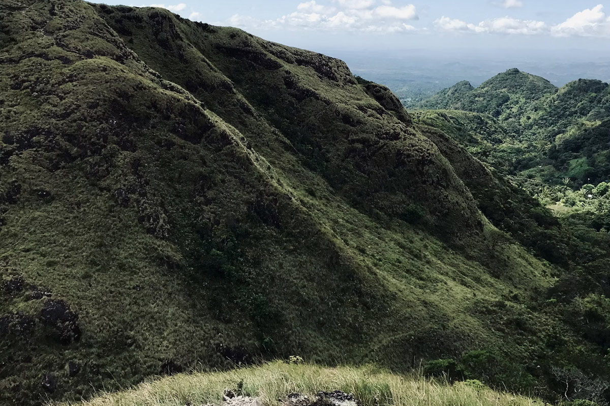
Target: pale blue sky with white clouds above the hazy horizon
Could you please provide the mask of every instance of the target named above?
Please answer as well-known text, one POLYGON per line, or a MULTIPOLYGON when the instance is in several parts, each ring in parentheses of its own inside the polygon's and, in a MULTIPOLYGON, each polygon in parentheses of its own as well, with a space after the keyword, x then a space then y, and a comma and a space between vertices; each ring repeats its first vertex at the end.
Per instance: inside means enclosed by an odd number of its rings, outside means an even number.
MULTIPOLYGON (((597 0, 600 1, 600 0, 597 0)), ((109 2, 118 4, 120 2, 109 2)), ((309 49, 573 49, 610 54, 595 0, 184 0, 165 7, 309 49)))

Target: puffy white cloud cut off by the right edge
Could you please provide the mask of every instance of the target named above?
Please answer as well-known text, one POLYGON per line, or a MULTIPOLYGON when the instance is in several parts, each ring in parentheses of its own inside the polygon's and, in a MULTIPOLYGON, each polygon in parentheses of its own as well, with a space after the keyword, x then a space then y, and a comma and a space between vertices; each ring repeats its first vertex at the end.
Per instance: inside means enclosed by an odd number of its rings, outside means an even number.
POLYGON ((563 23, 551 28, 556 37, 609 37, 610 17, 606 16, 604 6, 598 4, 592 9, 586 9, 566 19, 563 23))

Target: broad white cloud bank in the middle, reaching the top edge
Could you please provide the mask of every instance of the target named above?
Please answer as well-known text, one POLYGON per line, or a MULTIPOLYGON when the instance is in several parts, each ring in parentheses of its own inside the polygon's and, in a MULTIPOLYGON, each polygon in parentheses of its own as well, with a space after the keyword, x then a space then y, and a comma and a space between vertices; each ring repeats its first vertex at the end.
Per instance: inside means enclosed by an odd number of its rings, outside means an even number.
POLYGON ((257 20, 234 15, 228 23, 245 29, 306 29, 344 32, 392 33, 411 32, 415 27, 406 21, 418 19, 412 4, 394 7, 390 0, 308 0, 296 11, 277 19, 257 20))

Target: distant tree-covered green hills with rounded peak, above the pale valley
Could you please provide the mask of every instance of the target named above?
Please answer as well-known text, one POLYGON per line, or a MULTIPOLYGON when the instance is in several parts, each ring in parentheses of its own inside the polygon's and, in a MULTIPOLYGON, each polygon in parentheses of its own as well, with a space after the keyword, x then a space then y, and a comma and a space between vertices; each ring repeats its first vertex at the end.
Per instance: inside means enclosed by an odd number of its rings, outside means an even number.
POLYGON ((419 107, 497 118, 505 130, 492 134, 509 136, 501 143, 501 151, 491 153, 499 153, 500 159, 489 162, 507 173, 523 172, 551 184, 570 178, 579 187, 610 178, 608 83, 580 79, 558 89, 540 77, 510 69, 476 89, 460 82, 419 107))

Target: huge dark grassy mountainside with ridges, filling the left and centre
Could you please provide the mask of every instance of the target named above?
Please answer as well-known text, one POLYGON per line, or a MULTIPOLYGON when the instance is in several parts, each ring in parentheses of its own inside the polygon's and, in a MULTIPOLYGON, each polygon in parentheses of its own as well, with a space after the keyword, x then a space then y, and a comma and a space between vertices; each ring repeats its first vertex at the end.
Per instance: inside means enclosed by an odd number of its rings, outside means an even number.
POLYGON ((556 270, 486 218, 505 181, 342 61, 162 9, 0 16, 2 404, 294 354, 605 373, 534 306, 556 270))

